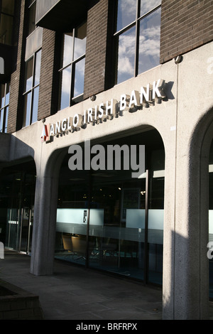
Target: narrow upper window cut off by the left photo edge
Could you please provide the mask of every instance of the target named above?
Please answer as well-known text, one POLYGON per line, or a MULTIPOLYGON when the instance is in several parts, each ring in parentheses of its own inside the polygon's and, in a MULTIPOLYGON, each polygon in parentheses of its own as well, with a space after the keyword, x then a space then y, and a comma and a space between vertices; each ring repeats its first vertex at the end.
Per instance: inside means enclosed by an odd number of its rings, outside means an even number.
POLYGON ((6 83, 0 86, 0 132, 7 132, 7 121, 9 112, 10 84, 6 83))

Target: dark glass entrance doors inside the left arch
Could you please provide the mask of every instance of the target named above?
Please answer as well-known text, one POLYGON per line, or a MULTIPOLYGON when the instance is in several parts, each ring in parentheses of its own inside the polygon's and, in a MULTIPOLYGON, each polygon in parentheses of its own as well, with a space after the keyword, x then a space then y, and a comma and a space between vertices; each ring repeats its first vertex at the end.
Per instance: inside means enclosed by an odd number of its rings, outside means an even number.
POLYGON ((35 175, 11 173, 4 178, 6 194, 5 247, 18 252, 31 252, 35 175), (6 193, 6 190, 8 193, 6 193))

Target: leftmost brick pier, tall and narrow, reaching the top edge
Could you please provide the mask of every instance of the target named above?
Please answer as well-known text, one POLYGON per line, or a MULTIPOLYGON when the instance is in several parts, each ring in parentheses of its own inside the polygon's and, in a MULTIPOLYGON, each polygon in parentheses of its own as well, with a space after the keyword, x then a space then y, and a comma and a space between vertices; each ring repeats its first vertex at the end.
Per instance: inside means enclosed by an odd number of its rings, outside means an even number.
POLYGON ((7 131, 12 133, 21 128, 23 115, 23 75, 24 75, 24 55, 26 47, 26 26, 24 18, 26 16, 25 0, 16 1, 15 13, 20 13, 19 20, 16 18, 15 41, 17 45, 16 70, 11 75, 11 92, 9 102, 9 117, 7 131))

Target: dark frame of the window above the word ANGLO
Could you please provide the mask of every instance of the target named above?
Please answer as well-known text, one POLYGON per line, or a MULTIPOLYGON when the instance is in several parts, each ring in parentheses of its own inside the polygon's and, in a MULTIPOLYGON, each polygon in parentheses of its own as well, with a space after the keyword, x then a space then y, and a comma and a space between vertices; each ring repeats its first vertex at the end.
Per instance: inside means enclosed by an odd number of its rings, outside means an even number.
MULTIPOLYGON (((74 95, 75 92, 75 69, 77 63, 80 63, 83 59, 85 60, 86 58, 86 45, 85 45, 85 50, 82 55, 79 57, 75 58, 75 39, 77 38, 77 30, 84 26, 86 24, 86 41, 87 41, 87 21, 82 22, 79 26, 75 27, 70 31, 72 32, 72 45, 71 45, 71 50, 72 50, 72 60, 70 63, 66 63, 63 66, 63 60, 64 60, 64 38, 67 33, 62 33, 62 48, 61 48, 61 59, 60 59, 60 69, 58 70, 59 76, 60 76, 60 85, 59 85, 59 99, 58 99, 58 111, 65 109, 67 107, 72 107, 72 105, 75 105, 79 102, 82 102, 84 92, 82 92, 80 95, 74 95), (70 92, 69 92, 69 105, 67 107, 61 107, 62 105, 62 75, 63 72, 67 69, 70 68, 70 92)), ((86 44, 86 42, 85 42, 86 44)), ((84 77, 85 77, 85 66, 84 66, 84 77)))

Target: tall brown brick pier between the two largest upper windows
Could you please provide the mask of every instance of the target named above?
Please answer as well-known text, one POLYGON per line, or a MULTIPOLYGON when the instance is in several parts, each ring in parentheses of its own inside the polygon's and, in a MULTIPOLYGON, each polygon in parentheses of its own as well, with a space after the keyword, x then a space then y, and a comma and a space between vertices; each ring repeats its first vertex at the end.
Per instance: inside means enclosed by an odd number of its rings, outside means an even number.
POLYGON ((108 1, 100 0, 88 11, 84 99, 105 88, 108 1))

